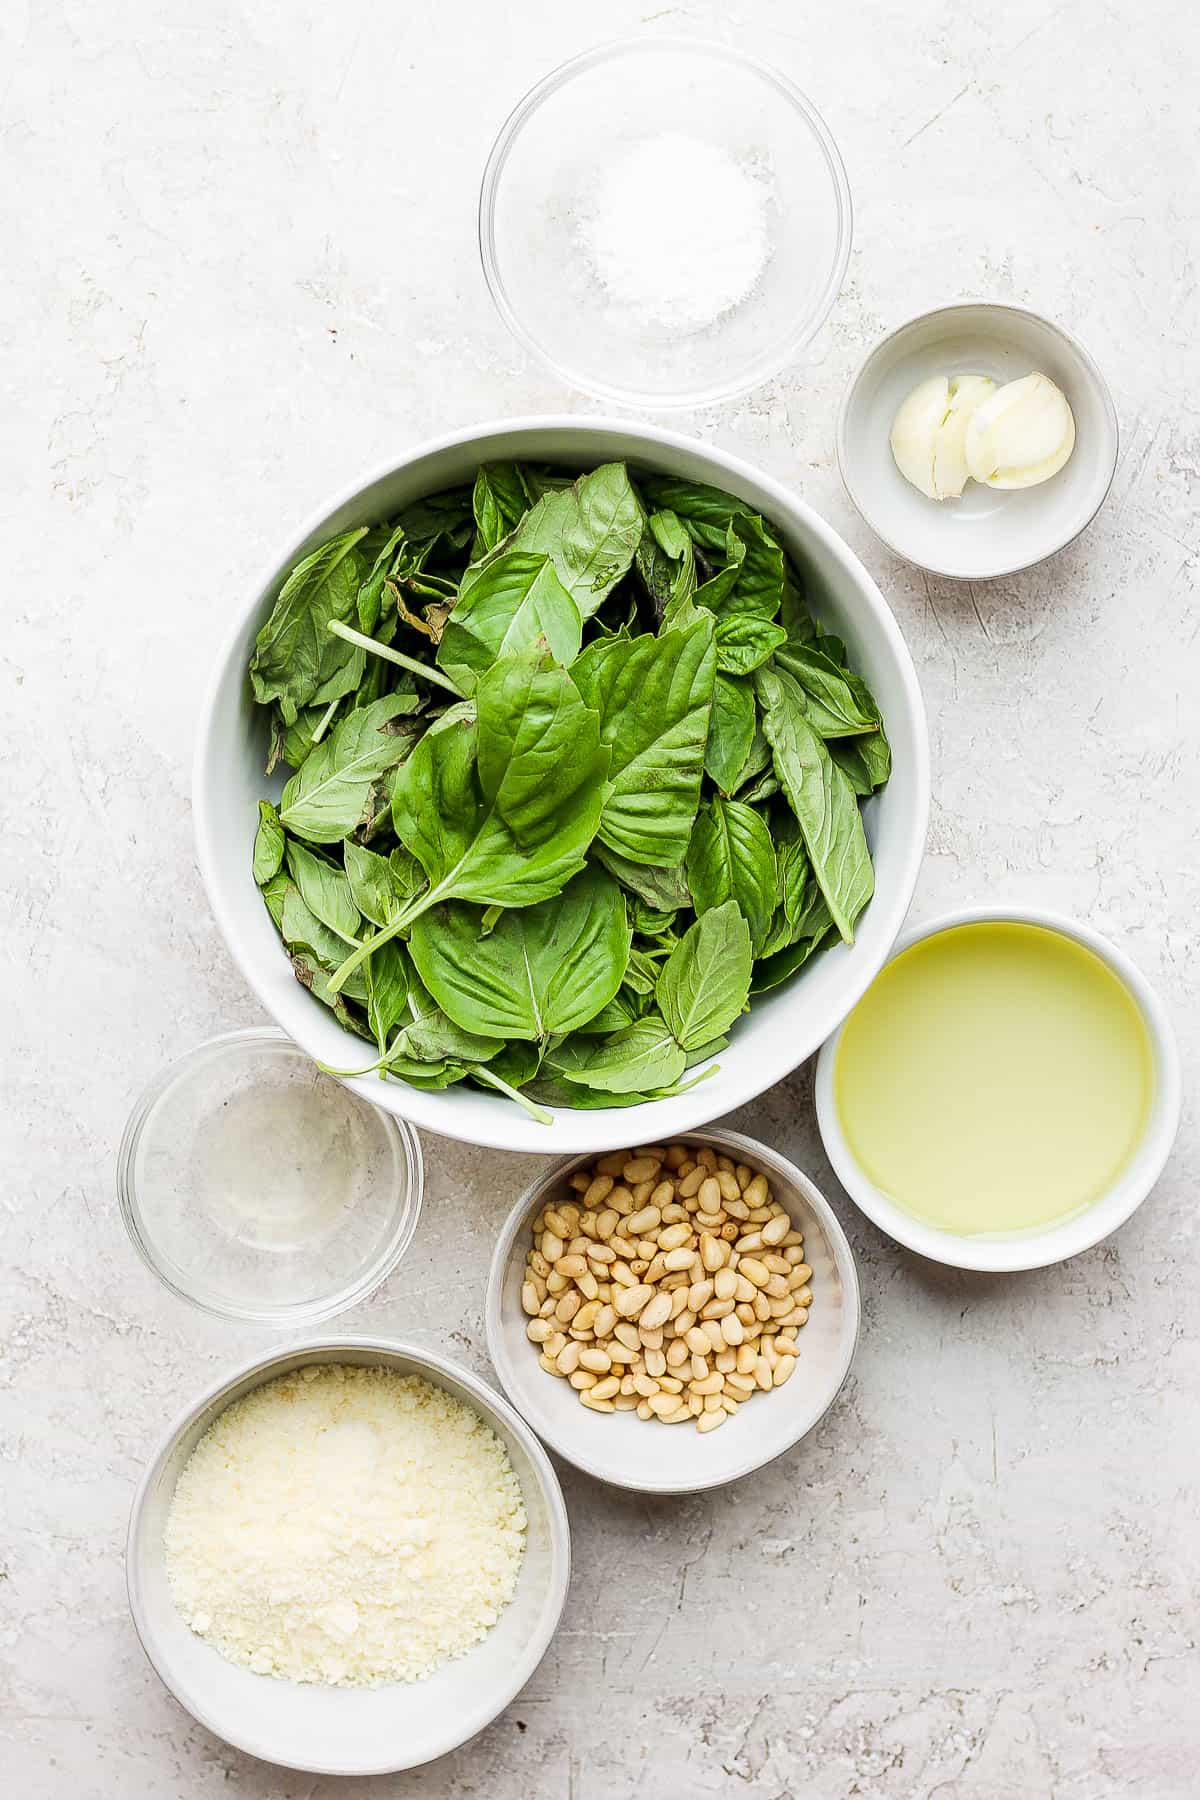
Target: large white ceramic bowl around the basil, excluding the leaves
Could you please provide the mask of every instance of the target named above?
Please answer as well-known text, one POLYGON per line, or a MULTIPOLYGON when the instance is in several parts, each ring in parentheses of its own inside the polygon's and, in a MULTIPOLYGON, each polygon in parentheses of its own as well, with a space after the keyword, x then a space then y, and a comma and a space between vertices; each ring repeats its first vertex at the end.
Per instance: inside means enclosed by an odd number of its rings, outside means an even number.
POLYGON ((200 869, 218 927, 275 1022, 318 1062, 344 1067, 353 1039, 295 979, 250 873, 257 801, 279 792, 281 783, 275 778, 272 787, 263 776, 266 724, 250 698, 246 662, 282 576, 304 549, 347 526, 387 517, 419 495, 462 481, 479 463, 500 457, 578 466, 630 459, 714 482, 761 508, 808 576, 813 610, 846 639, 855 668, 871 684, 892 745, 892 778, 864 808, 876 893, 858 922, 855 943, 824 950, 795 981, 756 999, 718 1058, 720 1073, 700 1087, 637 1111, 560 1111, 554 1125, 545 1127, 511 1100, 470 1087, 419 1093, 376 1076, 351 1084, 363 1100, 468 1143, 543 1154, 601 1150, 631 1138, 651 1143, 743 1105, 813 1055, 882 968, 909 911, 925 848, 928 731, 912 657, 858 558, 781 482, 721 450, 651 425, 560 418, 468 427, 354 484, 282 544, 264 580, 241 605, 221 652, 196 740, 193 803, 200 869))

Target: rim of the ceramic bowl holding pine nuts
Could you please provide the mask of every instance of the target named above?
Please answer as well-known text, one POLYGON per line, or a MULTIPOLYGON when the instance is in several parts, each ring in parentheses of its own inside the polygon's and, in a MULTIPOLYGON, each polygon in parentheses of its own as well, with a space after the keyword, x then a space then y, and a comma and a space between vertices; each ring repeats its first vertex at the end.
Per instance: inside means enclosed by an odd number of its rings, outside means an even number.
MULTIPOLYGON (((804 1431, 797 1431, 795 1436, 788 1438, 786 1444, 781 1444, 779 1449, 772 1449, 765 1454, 759 1454, 752 1449, 747 1456, 743 1456, 743 1460, 736 1467, 714 1472, 712 1478, 707 1481, 694 1481, 694 1480, 644 1481, 622 1476, 619 1472, 613 1472, 613 1469, 606 1465, 603 1456, 594 1458, 585 1454, 578 1447, 578 1442, 572 1435, 563 1436, 563 1433, 560 1433, 558 1429, 547 1429, 545 1420, 540 1415, 536 1418, 527 1417, 525 1422, 529 1424, 529 1429, 536 1431, 538 1436, 543 1440, 543 1444, 547 1444, 556 1456, 561 1456, 563 1462, 569 1462, 572 1463, 572 1467, 581 1469, 583 1474, 590 1474, 596 1481, 604 1481, 606 1487, 617 1487, 631 1494, 662 1494, 662 1496, 703 1494, 711 1492, 712 1489, 729 1487, 732 1481, 741 1481, 745 1476, 754 1474, 757 1469, 766 1469, 772 1462, 777 1462, 779 1456, 786 1456, 790 1451, 797 1447, 797 1444, 802 1444, 804 1438, 808 1438, 826 1418, 829 1408, 833 1406, 838 1393, 846 1386, 846 1379, 851 1372, 851 1366, 855 1363, 855 1354, 858 1350, 858 1339, 862 1336, 862 1287, 858 1282, 858 1265, 855 1262, 855 1251, 851 1247, 849 1238, 846 1237, 846 1231, 842 1229, 837 1213, 833 1211, 829 1201, 824 1197, 824 1193, 811 1179, 811 1175, 806 1175, 802 1170, 795 1166, 795 1163, 790 1161, 790 1157, 781 1156, 781 1152, 774 1150, 770 1145, 761 1143, 757 1138, 747 1138, 745 1132, 723 1130, 712 1125, 712 1127, 700 1127, 696 1130, 682 1130, 676 1134, 676 1138, 680 1143, 691 1143, 691 1141, 709 1143, 714 1148, 736 1154, 739 1159, 745 1159, 752 1166, 765 1166, 768 1174, 770 1174, 770 1165, 774 1163, 775 1168, 783 1172, 788 1181, 795 1183, 795 1186, 804 1193, 808 1206, 811 1206, 811 1210, 820 1219, 820 1228, 826 1233, 829 1251, 842 1278, 844 1316, 846 1316, 842 1327, 842 1355, 837 1379, 833 1381, 829 1395, 820 1411, 817 1413, 817 1417, 804 1431)), ((592 1161, 596 1154, 597 1152, 594 1150, 583 1150, 576 1156, 558 1157, 534 1181, 531 1181, 531 1184, 518 1199, 516 1206, 513 1206, 511 1213, 504 1220, 504 1226, 500 1228, 500 1233, 497 1237, 495 1249, 491 1253, 491 1265, 488 1269, 488 1291, 484 1296, 484 1330, 488 1336, 488 1355, 491 1359, 491 1366, 497 1372, 497 1377, 500 1379, 500 1384, 504 1386, 506 1395, 509 1397, 509 1402, 518 1411, 520 1411, 520 1400, 516 1399, 515 1386, 511 1386, 511 1373, 509 1373, 511 1363, 502 1332, 504 1276, 516 1251, 516 1240, 520 1237, 520 1231, 527 1224, 534 1208, 542 1202, 543 1195, 565 1174, 569 1174, 572 1168, 578 1168, 583 1163, 592 1161)), ((533 1352, 533 1345, 529 1346, 529 1350, 533 1352)), ((588 1418, 585 1408, 579 1408, 581 1431, 587 1429, 587 1426, 596 1427, 597 1424, 599 1420, 588 1418)))

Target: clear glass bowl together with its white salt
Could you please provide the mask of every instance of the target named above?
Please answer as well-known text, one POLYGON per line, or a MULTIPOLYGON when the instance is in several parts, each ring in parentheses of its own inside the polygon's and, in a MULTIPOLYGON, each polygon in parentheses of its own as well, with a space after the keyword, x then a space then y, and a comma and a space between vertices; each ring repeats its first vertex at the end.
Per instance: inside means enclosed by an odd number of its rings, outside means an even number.
POLYGON ((628 407, 698 407, 793 362, 842 286, 846 169, 779 70, 637 38, 516 106, 479 200, 491 295, 556 374, 628 407))

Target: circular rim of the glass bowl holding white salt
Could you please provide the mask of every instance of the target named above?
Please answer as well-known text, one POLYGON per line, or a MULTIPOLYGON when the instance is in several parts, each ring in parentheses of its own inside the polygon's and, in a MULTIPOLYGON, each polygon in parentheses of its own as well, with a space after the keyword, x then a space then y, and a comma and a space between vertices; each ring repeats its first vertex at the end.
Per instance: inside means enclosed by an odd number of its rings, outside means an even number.
POLYGON ((502 320, 524 347, 549 369, 560 380, 569 382, 572 387, 594 400, 612 401, 624 407, 639 407, 644 410, 684 410, 689 407, 714 405, 721 400, 736 400, 739 394, 747 394, 756 387, 761 387, 781 369, 788 367, 806 344, 817 335, 820 326, 829 317, 833 304, 842 292, 842 283, 846 281, 846 268, 849 265, 849 252, 855 236, 855 209, 849 191, 849 178, 846 175, 846 164, 842 153, 837 146, 829 126, 810 101, 810 97, 799 88, 790 76, 784 76, 779 68, 774 68, 759 56, 752 56, 747 50, 736 49, 734 45, 721 43, 718 38, 691 38, 685 34, 662 32, 653 36, 624 36, 610 38, 606 43, 597 43, 590 50, 581 50, 578 56, 570 56, 565 63, 560 63, 547 76, 536 81, 527 92, 518 99, 504 124, 500 126, 491 151, 488 153, 488 162, 484 164, 484 175, 479 187, 479 254, 484 265, 484 279, 488 283, 488 292, 495 302, 497 311, 502 320), (509 299, 504 275, 500 274, 500 261, 497 256, 497 194, 500 189, 500 180, 504 176, 509 155, 516 144, 516 139, 524 124, 533 117, 534 112, 560 88, 567 86, 576 76, 587 74, 603 63, 615 61, 621 56, 631 52, 669 52, 669 50, 687 50, 702 56, 711 56, 720 61, 739 65, 750 74, 766 81, 784 101, 799 113, 801 121, 808 126, 808 131, 822 155, 826 173, 833 189, 833 202, 837 212, 837 248, 833 254, 833 263, 826 283, 820 290, 820 297, 811 310, 810 319, 790 331, 786 337, 772 342, 754 364, 745 367, 741 373, 729 376, 721 382, 709 382, 702 387, 689 389, 687 392, 667 392, 651 394, 644 389, 621 387, 612 382, 603 382, 596 376, 583 373, 574 364, 560 362, 551 351, 540 342, 534 331, 525 324, 522 313, 516 311, 513 301, 509 299))

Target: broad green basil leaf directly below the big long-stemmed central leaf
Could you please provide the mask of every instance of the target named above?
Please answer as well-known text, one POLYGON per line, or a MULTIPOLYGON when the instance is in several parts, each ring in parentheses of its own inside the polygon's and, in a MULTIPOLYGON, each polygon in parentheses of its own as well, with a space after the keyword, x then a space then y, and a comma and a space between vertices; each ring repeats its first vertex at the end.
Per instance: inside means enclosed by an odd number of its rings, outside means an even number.
POLYGON ((583 869, 561 895, 502 913, 488 936, 479 907, 432 907, 412 925, 410 952, 425 986, 459 1024, 545 1042, 615 995, 630 923, 612 877, 583 869))

